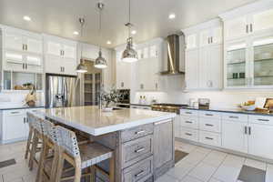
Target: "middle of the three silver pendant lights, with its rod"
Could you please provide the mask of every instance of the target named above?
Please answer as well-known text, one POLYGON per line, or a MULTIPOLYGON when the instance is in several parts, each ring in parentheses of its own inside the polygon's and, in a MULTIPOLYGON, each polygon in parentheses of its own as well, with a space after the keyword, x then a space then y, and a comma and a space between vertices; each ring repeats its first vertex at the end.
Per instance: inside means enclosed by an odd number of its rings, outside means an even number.
MULTIPOLYGON (((102 13, 104 6, 105 5, 102 3, 97 4, 97 8, 99 10, 99 37, 100 38, 101 38, 101 13, 102 13)), ((99 69, 104 69, 107 67, 106 59, 102 56, 101 46, 99 46, 98 57, 95 60, 94 66, 99 69)))

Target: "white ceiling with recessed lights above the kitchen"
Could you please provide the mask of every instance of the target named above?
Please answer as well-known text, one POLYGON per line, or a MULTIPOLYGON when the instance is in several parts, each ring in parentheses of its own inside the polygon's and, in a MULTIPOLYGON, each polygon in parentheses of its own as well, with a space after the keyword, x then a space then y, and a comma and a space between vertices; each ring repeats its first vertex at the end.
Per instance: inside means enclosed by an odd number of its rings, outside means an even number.
MULTIPOLYGON (((246 5, 255 0, 131 0, 132 23, 137 34, 136 42, 166 36, 181 28, 207 21, 229 9, 246 5), (169 20, 168 15, 175 13, 177 18, 169 20)), ((98 37, 98 0, 0 0, 0 24, 59 35, 79 40, 78 17, 85 16, 86 27, 82 41, 114 47, 124 44, 127 31, 128 0, 103 0, 102 39, 98 37), (23 20, 24 15, 32 18, 23 20), (106 45, 110 40, 112 45, 106 45)))

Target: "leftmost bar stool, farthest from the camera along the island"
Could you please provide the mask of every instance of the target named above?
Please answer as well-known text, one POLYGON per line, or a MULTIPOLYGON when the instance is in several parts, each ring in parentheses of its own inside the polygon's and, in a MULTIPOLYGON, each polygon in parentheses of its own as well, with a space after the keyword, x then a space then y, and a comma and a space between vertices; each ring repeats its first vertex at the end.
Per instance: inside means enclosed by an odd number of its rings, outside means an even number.
POLYGON ((34 163, 38 164, 38 160, 36 159, 36 154, 41 151, 40 147, 38 147, 38 144, 40 143, 39 141, 43 141, 43 129, 42 129, 41 122, 37 119, 41 116, 35 115, 33 113, 29 113, 29 112, 27 112, 26 115, 32 127, 32 134, 29 137, 30 141, 27 140, 27 145, 26 145, 26 150, 29 150, 29 151, 26 151, 25 154, 27 156, 28 152, 30 153, 28 167, 29 167, 29 170, 32 170, 34 163))

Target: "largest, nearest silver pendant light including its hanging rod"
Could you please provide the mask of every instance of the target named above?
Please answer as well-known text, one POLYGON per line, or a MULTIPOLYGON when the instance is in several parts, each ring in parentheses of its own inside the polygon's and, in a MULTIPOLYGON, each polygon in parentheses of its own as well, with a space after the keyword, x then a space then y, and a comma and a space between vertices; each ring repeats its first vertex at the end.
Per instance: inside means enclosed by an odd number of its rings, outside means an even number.
POLYGON ((133 37, 131 36, 131 27, 133 26, 131 24, 131 0, 129 0, 129 22, 126 23, 126 26, 128 27, 128 38, 126 40, 126 50, 124 50, 122 54, 122 61, 127 63, 132 63, 137 61, 137 53, 136 50, 133 48, 133 37))

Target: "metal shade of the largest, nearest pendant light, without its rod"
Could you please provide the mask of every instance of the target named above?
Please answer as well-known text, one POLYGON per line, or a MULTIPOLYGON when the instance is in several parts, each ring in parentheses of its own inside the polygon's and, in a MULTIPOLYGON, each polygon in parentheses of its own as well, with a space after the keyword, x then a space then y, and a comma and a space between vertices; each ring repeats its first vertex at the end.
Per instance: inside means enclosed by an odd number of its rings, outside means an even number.
POLYGON ((122 59, 122 61, 127 62, 127 63, 136 62, 138 60, 137 52, 133 48, 133 38, 132 37, 129 37, 127 39, 126 50, 124 50, 121 59, 122 59))

